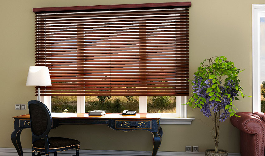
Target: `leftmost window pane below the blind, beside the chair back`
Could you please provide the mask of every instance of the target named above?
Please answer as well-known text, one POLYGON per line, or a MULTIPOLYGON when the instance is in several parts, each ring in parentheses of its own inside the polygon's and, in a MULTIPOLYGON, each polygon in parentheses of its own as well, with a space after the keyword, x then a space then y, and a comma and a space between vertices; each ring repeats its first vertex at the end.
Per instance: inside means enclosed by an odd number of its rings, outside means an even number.
POLYGON ((51 96, 51 112, 53 113, 76 113, 77 97, 76 96, 51 96))

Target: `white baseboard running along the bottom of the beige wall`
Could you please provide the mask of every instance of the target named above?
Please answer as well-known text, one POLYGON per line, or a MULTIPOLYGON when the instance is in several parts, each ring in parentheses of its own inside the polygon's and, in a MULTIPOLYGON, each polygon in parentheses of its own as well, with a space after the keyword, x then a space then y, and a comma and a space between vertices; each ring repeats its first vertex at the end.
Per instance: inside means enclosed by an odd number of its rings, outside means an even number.
MULTIPOLYGON (((31 149, 23 149, 24 156, 31 156, 31 149)), ((58 156, 70 156, 74 155, 75 150, 59 152, 58 156)), ((15 148, 0 148, 1 156, 17 156, 17 150, 15 148)), ((53 154, 50 154, 53 156, 53 154)), ((150 156, 151 151, 117 151, 117 150, 79 150, 80 156, 150 156)), ((158 151, 157 156, 204 156, 203 152, 163 152, 158 151)), ((239 153, 229 153, 228 156, 240 156, 239 153)))

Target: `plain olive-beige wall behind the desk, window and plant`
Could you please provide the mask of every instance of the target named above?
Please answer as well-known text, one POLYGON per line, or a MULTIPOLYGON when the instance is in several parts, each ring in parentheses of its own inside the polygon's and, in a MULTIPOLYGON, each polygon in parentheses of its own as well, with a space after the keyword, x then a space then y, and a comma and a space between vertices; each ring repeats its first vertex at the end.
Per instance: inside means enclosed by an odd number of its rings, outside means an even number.
MULTIPOLYGON (((34 7, 64 7, 182 0, 1 0, 0 5, 0 147, 13 148, 10 135, 12 116, 28 114, 15 110, 15 104, 36 99, 34 87, 26 86, 29 66, 34 66, 34 7)), ((245 69, 239 77, 245 94, 252 95, 252 4, 264 0, 191 0, 190 7, 190 78, 205 58, 224 55, 245 69)), ((252 98, 234 102, 239 112, 252 111, 252 98)), ((214 148, 210 135, 211 119, 199 110, 188 109, 195 117, 191 125, 162 125, 160 151, 185 151, 186 145, 198 145, 200 152, 214 148)), ((239 153, 239 130, 229 119, 221 123, 219 148, 239 153)), ((147 131, 115 131, 106 126, 63 125, 51 130, 50 136, 80 140, 81 149, 152 150, 152 134, 147 131), (100 141, 105 138, 105 141, 100 141), (123 141, 127 138, 130 141, 123 141)), ((22 147, 31 148, 30 129, 22 131, 22 147)))

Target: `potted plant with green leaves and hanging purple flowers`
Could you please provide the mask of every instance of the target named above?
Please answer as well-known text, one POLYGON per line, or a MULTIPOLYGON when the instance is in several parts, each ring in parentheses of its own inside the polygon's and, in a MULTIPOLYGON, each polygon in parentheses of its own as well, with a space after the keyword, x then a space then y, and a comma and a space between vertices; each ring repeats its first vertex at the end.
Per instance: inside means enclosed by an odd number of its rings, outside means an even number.
POLYGON ((206 117, 211 116, 213 119, 215 149, 205 150, 205 156, 227 156, 227 151, 218 148, 219 124, 229 116, 238 116, 233 101, 239 100, 237 96, 245 97, 238 78, 242 71, 226 59, 224 56, 215 56, 200 63, 192 80, 191 98, 186 103, 193 109, 199 108, 206 117))

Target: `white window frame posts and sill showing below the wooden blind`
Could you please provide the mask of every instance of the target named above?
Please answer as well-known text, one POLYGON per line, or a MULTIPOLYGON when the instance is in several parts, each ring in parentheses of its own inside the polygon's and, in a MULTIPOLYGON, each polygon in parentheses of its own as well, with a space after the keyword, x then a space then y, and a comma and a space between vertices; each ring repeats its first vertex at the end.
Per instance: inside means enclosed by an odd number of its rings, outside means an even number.
MULTIPOLYGON (((51 96, 41 96, 40 101, 51 111, 51 96)), ((161 124, 191 124, 195 118, 187 118, 187 96, 176 96, 176 114, 161 113, 161 124)), ((139 113, 147 113, 147 96, 139 96, 139 113)), ((77 113, 85 113, 85 96, 77 96, 77 113)))

